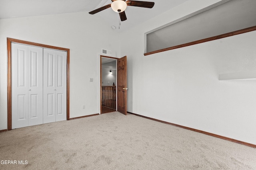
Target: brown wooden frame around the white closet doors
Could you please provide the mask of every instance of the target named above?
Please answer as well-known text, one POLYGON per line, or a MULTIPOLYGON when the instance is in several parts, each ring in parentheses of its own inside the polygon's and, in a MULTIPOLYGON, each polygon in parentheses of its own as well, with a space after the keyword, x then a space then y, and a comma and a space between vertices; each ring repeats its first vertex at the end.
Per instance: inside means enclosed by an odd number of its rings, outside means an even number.
POLYGON ((67 51, 67 120, 69 120, 69 55, 70 49, 54 47, 51 45, 44 45, 39 43, 32 43, 29 41, 22 41, 18 39, 7 38, 7 57, 8 57, 8 68, 7 68, 7 130, 12 130, 12 72, 11 72, 11 43, 20 43, 24 45, 32 45, 36 47, 43 47, 48 49, 55 49, 61 51, 67 51))

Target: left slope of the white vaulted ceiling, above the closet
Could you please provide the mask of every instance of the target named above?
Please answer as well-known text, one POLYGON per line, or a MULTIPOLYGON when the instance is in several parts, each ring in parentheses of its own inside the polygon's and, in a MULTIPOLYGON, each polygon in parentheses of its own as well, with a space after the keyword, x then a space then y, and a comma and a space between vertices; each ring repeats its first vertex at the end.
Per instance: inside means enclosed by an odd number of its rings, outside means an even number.
POLYGON ((0 0, 0 19, 88 11, 102 0, 0 0))

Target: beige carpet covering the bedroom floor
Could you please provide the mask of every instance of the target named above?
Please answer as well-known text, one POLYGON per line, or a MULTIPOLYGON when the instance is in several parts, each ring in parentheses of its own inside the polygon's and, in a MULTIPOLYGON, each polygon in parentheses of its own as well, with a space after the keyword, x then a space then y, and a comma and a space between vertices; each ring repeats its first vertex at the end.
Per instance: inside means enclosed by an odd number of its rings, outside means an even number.
POLYGON ((256 149, 112 112, 2 132, 0 161, 1 170, 256 170, 256 149))

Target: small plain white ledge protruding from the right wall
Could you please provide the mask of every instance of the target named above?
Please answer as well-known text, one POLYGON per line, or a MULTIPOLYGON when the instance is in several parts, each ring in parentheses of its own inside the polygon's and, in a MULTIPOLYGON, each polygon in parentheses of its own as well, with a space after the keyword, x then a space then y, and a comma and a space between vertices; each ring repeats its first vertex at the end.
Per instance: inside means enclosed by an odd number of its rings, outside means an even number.
POLYGON ((219 74, 219 80, 242 80, 256 78, 256 70, 219 74))

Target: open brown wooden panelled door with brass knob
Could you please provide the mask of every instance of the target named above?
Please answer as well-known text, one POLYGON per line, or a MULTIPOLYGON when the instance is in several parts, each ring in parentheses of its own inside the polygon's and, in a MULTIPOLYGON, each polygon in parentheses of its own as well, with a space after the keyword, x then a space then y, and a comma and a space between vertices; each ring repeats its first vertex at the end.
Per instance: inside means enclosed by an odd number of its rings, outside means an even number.
POLYGON ((126 56, 117 59, 117 111, 126 115, 126 56))

